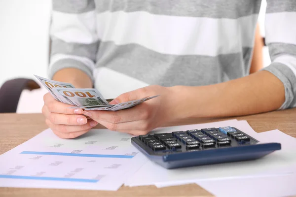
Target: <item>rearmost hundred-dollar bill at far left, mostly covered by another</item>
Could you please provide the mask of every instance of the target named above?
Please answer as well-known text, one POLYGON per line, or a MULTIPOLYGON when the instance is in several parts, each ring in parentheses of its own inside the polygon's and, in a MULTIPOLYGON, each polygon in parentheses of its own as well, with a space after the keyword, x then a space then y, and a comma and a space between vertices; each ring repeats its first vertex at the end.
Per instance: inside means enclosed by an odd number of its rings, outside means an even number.
MULTIPOLYGON (((48 90, 48 92, 55 98, 56 100, 60 102, 65 102, 63 98, 58 98, 57 95, 55 95, 52 91, 53 88, 75 88, 74 85, 71 83, 65 83, 65 82, 60 82, 60 81, 54 81, 50 79, 46 79, 37 75, 34 75, 40 82, 41 84, 48 90)), ((69 103, 67 103, 69 104, 69 103)))

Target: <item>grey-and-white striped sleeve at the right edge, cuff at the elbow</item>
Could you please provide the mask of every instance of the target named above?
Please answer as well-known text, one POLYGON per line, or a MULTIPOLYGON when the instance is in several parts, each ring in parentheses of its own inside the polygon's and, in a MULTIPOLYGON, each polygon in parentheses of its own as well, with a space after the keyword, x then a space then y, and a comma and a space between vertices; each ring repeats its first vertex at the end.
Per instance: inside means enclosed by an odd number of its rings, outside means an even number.
POLYGON ((296 0, 267 0, 265 34, 271 64, 263 70, 285 86, 280 109, 296 107, 296 0))

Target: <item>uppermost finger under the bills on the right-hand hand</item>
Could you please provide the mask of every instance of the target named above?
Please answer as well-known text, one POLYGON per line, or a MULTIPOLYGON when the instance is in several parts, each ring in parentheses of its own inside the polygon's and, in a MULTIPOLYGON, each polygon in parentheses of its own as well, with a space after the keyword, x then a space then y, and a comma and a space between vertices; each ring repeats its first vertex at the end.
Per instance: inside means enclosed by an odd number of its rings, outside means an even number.
POLYGON ((151 118, 151 109, 147 103, 141 103, 130 109, 119 111, 84 111, 84 115, 90 116, 96 121, 105 121, 110 123, 124 123, 130 121, 148 120, 151 118))

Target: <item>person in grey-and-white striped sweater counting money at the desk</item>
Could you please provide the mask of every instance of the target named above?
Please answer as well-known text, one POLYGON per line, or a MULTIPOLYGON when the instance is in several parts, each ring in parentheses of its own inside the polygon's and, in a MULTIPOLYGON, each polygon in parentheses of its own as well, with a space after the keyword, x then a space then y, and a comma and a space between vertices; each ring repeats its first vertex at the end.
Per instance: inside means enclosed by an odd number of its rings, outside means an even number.
POLYGON ((160 97, 120 111, 83 111, 46 94, 47 125, 61 138, 80 136, 98 123, 141 135, 188 118, 295 107, 296 1, 267 0, 265 43, 272 62, 250 74, 260 3, 53 0, 50 78, 98 87, 98 69, 108 68, 150 84, 111 104, 160 97))

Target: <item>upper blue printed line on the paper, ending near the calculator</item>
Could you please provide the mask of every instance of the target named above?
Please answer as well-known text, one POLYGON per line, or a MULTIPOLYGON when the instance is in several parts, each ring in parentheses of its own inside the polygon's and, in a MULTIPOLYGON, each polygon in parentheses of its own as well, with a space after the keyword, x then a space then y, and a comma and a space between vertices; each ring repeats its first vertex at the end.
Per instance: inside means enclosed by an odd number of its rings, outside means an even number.
POLYGON ((21 154, 30 155, 59 155, 59 156, 74 156, 74 157, 99 157, 99 158, 125 158, 131 159, 132 155, 96 155, 96 154, 79 154, 79 153, 58 153, 58 152, 39 152, 39 151, 23 151, 21 154))

